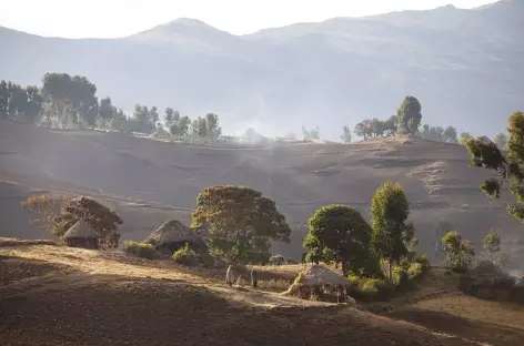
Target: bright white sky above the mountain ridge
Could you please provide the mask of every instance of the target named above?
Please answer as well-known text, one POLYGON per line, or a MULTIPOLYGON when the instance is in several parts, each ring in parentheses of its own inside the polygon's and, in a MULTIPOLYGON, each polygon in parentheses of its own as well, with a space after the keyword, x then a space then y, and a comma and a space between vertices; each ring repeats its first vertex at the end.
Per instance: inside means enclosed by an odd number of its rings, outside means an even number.
POLYGON ((177 18, 200 19, 235 34, 333 17, 473 8, 494 0, 0 0, 0 26, 66 38, 113 38, 177 18))

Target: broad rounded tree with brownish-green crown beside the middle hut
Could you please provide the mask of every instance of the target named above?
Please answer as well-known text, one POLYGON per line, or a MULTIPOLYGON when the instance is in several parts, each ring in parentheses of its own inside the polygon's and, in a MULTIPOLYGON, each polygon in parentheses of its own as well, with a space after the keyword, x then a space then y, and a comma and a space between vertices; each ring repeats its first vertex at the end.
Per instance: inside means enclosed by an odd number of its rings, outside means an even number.
POLYGON ((196 199, 193 230, 206 228, 210 251, 230 263, 264 263, 270 242, 289 243, 291 228, 275 203, 260 192, 232 185, 205 189, 196 199))

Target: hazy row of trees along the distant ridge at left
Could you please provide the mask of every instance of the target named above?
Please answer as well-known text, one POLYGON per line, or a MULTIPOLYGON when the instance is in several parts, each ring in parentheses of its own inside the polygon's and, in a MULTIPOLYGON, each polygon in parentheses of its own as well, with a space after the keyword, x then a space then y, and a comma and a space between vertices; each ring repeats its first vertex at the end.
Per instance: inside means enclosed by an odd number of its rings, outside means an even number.
MULTIPOLYGON (((133 113, 128 116, 110 96, 99 101, 97 85, 85 77, 68 73, 46 73, 40 86, 0 81, 0 119, 53 129, 99 128, 148 134, 161 126, 157 106, 137 103, 133 113)), ((214 113, 191 120, 167 108, 164 119, 175 136, 215 139, 222 131, 219 116, 214 113)))

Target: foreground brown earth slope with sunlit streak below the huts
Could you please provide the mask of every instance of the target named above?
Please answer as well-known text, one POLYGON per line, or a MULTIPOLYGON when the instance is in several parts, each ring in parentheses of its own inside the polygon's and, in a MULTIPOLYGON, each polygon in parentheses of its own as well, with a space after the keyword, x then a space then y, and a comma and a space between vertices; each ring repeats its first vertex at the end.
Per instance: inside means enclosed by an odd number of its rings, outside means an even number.
MULTIPOLYGON (((223 271, 117 251, 17 242, 0 247, 0 345, 7 346, 504 346, 524 339, 522 305, 464 296, 454 289, 457 277, 440 269, 417 284, 410 302, 393 299, 393 311, 377 316, 272 292, 236 291, 223 285, 223 271), (16 274, 21 265, 31 266, 22 276, 16 274)), ((284 279, 302 268, 258 267, 266 277, 284 279)))

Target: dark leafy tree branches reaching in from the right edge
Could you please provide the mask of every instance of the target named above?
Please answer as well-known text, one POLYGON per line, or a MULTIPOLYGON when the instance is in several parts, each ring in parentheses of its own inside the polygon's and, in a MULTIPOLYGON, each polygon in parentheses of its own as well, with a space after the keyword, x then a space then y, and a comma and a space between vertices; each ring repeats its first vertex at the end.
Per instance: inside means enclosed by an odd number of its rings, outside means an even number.
POLYGON ((497 176, 487 179, 481 190, 492 199, 501 196, 501 187, 511 181, 510 191, 516 197, 516 204, 507 205, 510 214, 524 220, 524 113, 510 115, 507 132, 507 154, 503 155, 498 146, 484 138, 466 142, 472 167, 485 167, 495 171, 497 176))

